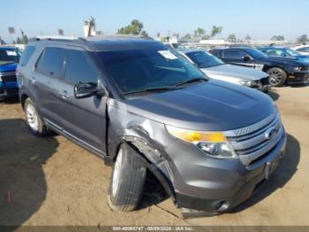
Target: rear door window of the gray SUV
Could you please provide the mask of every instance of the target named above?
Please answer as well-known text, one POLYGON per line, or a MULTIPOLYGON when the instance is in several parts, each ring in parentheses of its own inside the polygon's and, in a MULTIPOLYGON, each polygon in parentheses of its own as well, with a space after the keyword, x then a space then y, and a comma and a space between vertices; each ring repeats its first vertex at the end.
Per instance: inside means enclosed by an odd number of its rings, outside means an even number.
POLYGON ((45 48, 36 64, 36 70, 60 79, 64 76, 64 56, 64 49, 45 48))

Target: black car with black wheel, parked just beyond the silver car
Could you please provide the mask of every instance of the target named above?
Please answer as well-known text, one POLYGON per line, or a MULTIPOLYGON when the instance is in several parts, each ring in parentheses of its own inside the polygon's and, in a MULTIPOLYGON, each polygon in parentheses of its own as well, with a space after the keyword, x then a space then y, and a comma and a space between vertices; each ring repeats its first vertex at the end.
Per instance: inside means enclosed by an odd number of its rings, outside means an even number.
POLYGON ((287 83, 305 83, 309 79, 309 63, 298 58, 268 57, 249 47, 210 50, 225 63, 260 69, 269 74, 269 83, 283 86, 287 83))

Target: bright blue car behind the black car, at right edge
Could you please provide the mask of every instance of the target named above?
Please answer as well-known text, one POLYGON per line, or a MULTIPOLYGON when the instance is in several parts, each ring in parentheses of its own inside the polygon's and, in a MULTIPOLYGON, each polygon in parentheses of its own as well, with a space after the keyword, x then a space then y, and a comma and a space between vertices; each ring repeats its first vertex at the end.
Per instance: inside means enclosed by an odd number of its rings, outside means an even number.
POLYGON ((309 56, 302 55, 296 50, 285 47, 261 47, 258 50, 264 52, 269 57, 299 58, 309 62, 309 56))

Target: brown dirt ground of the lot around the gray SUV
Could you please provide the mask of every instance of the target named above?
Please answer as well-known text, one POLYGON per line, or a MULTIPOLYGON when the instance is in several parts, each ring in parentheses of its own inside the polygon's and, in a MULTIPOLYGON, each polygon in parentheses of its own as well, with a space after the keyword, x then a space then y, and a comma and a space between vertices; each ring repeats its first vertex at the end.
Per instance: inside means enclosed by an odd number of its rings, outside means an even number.
POLYGON ((170 199, 151 196, 138 211, 111 212, 110 167, 63 136, 31 135, 19 103, 2 103, 0 225, 309 225, 309 86, 271 97, 288 133, 280 168, 233 213, 187 220, 170 199))

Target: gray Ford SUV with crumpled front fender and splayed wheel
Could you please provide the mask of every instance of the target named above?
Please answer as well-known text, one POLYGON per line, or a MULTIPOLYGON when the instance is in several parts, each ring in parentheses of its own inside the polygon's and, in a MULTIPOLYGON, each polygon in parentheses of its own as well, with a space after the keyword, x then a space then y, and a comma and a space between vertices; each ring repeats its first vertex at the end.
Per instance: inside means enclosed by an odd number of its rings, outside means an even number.
POLYGON ((149 172, 185 215, 228 212, 283 158, 286 134, 270 97, 210 80, 162 43, 45 38, 23 56, 19 97, 29 128, 53 130, 112 165, 113 210, 139 205, 149 172))

